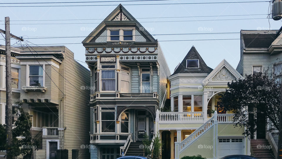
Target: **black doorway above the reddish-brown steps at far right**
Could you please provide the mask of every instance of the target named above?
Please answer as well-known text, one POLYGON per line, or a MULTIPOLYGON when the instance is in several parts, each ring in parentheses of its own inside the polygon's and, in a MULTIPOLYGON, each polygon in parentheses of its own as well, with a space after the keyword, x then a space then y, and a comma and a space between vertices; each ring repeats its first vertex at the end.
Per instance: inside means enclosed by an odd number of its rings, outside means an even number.
POLYGON ((266 117, 264 113, 257 113, 256 138, 265 139, 266 136, 266 117))

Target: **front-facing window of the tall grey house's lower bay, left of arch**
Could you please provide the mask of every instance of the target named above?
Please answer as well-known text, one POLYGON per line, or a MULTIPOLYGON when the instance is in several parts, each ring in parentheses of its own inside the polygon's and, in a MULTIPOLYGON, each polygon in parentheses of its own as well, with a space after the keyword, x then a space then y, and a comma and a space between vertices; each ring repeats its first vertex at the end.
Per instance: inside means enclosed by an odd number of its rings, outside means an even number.
POLYGON ((115 132, 115 112, 101 112, 101 131, 115 132))

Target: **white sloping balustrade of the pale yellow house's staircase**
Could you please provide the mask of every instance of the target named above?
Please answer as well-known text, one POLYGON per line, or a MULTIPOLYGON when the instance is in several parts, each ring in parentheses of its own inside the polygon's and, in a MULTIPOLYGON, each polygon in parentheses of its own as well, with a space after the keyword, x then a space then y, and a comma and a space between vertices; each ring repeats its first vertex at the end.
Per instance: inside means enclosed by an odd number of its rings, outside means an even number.
MULTIPOLYGON (((189 145, 191 145, 195 140, 199 138, 204 132, 209 130, 214 125, 214 119, 217 119, 216 114, 211 117, 207 122, 205 122, 201 127, 195 130, 189 137, 184 139, 181 143, 179 143, 179 153, 185 150, 189 145)), ((177 153, 177 152, 175 152, 177 153)))

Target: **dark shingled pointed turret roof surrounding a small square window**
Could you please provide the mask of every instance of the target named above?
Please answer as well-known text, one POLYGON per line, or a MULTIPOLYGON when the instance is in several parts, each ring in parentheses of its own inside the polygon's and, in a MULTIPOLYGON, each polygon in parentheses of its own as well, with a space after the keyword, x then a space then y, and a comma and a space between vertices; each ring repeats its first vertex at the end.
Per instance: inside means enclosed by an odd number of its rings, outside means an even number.
MULTIPOLYGON (((187 55, 184 57, 182 62, 178 65, 172 75, 178 73, 211 73, 212 68, 208 67, 207 64, 204 62, 200 54, 197 52, 194 46, 191 47, 187 55), (186 60, 187 59, 199 59, 199 68, 198 69, 188 69, 186 68, 186 60)), ((172 76, 171 75, 171 76, 172 76)))

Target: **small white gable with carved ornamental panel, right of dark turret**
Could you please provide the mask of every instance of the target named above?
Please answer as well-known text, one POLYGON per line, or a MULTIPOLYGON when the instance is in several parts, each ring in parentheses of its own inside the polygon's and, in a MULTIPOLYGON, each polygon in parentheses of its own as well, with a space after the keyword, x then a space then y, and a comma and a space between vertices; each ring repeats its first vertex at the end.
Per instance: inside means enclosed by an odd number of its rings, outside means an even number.
POLYGON ((225 59, 223 59, 216 67, 215 69, 203 80, 202 85, 206 86, 207 83, 210 81, 222 81, 225 82, 227 85, 226 81, 232 81, 232 80, 239 80, 239 79, 244 79, 239 72, 236 71, 225 59), (227 72, 222 72, 225 74, 219 74, 221 70, 227 69, 227 72), (222 77, 220 77, 222 75, 222 77), (218 76, 218 77, 217 77, 218 76), (212 80, 214 77, 216 79, 212 80))

